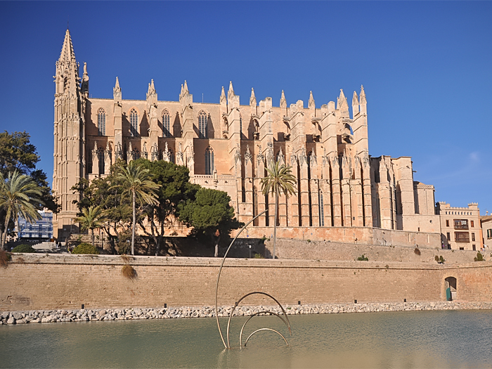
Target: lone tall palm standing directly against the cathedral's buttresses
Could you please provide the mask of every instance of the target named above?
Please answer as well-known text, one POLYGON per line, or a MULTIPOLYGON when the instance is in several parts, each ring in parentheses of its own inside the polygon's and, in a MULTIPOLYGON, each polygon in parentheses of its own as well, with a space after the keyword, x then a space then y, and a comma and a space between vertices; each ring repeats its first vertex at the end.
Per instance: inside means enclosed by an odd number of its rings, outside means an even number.
POLYGON ((273 259, 277 242, 278 195, 283 193, 287 198, 295 193, 296 179, 285 164, 272 163, 266 169, 268 175, 261 179, 261 192, 266 196, 269 192, 275 194, 275 220, 273 221, 273 259))

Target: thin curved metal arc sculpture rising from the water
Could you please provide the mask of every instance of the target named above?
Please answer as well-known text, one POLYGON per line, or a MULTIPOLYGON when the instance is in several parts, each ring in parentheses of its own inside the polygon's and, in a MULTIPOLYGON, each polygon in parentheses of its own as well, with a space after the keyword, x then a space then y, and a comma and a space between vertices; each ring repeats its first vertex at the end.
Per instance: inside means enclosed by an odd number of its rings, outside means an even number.
MULTIPOLYGON (((228 319, 228 322, 227 322, 227 343, 226 343, 226 340, 224 339, 224 335, 222 334, 221 324, 219 322, 219 309, 218 309, 218 306, 217 306, 218 305, 217 304, 217 297, 219 295, 219 280, 221 278, 222 268, 224 267, 224 261, 226 261, 226 257, 227 257, 227 254, 228 254, 229 250, 231 250, 231 247, 232 247, 233 243, 238 238, 238 236, 241 234, 241 232, 244 231, 246 229, 246 227, 249 226, 252 223, 252 221, 254 221, 254 219, 257 219, 258 216, 260 216, 262 214, 265 214, 266 212, 267 212, 267 210, 265 210, 264 212, 259 213, 257 216, 254 216, 254 218, 251 219, 250 221, 248 221, 247 224, 245 224, 245 226, 241 228, 241 230, 238 232, 238 234, 235 235, 235 238, 231 242, 231 245, 229 245, 229 247, 226 250, 226 253, 224 254, 224 258, 222 259, 221 266, 219 268, 219 274, 217 275, 217 283, 216 283, 216 286, 215 286, 215 318, 216 318, 216 321, 217 321, 217 328, 219 328, 219 335, 221 335, 222 343, 224 344, 224 347, 226 349, 231 349, 231 343, 229 342, 229 328, 231 327, 231 319, 233 318, 235 308, 238 307, 239 303, 243 299, 245 299, 248 296, 251 296, 252 294, 264 294, 266 297, 271 298, 274 302, 277 303, 278 306, 280 306, 280 309, 282 309, 282 312, 283 312, 283 315, 285 316, 285 319, 282 318, 282 316, 280 316, 278 313, 275 313, 273 311, 259 311, 258 313, 254 313, 242 325, 241 332, 240 332, 240 335, 239 335, 239 344, 240 344, 240 347, 242 347, 242 332, 245 329, 246 324, 251 320, 251 318, 253 316, 258 316, 260 314, 266 314, 266 313, 268 313, 268 314, 275 315, 278 318, 280 318, 280 320, 283 321, 283 323, 285 323, 285 325, 287 325, 287 328, 289 329, 289 334, 292 336, 292 330, 290 329, 290 321, 289 321, 289 318, 287 317, 287 313, 285 312, 285 309, 283 308, 283 306, 280 304, 280 302, 278 302, 278 300, 275 297, 271 296, 271 294, 268 294, 266 292, 249 292, 249 293, 245 294, 244 296, 242 296, 238 300, 238 302, 236 302, 234 304, 234 307, 231 310, 231 315, 229 316, 229 319, 228 319)), ((264 331, 264 330, 271 331, 271 332, 276 332, 278 335, 280 335, 280 337, 283 338, 283 340, 285 341, 285 344, 287 344, 287 346, 289 346, 289 343, 287 342, 287 339, 285 339, 285 337, 282 334, 280 334, 280 332, 278 332, 276 330, 273 330, 271 328, 260 328, 258 330, 255 330, 254 332, 252 332, 252 334, 249 337, 247 337, 246 342, 245 342, 245 346, 246 346, 247 342, 249 341, 249 339, 251 338, 252 335, 254 335, 257 332, 264 331)))

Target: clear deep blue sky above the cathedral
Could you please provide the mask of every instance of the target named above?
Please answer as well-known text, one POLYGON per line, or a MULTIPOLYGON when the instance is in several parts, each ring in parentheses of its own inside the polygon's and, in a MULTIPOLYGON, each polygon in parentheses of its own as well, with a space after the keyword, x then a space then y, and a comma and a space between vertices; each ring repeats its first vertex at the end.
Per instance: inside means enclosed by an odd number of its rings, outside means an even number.
MULTIPOLYGON (((0 129, 28 131, 53 173, 55 62, 70 18, 91 96, 316 106, 364 85, 370 155, 411 156, 436 201, 492 212, 492 2, 0 1, 0 129)), ((82 68, 81 68, 82 70, 82 68)))

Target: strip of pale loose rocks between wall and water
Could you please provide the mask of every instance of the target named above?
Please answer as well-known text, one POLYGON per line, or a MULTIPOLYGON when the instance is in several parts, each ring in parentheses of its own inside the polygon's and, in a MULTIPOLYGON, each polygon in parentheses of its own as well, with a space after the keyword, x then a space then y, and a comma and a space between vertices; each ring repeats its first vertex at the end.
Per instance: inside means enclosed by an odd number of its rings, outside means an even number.
MULTIPOLYGON (((229 316, 232 306, 219 307, 219 316, 229 316)), ((367 304, 305 304, 286 305, 287 315, 324 313, 367 313, 376 311, 419 310, 483 310, 492 309, 491 302, 386 302, 367 304)), ((278 306, 238 306, 235 316, 251 316, 259 311, 282 313, 278 306)), ((82 310, 33 310, 5 311, 0 313, 0 324, 58 323, 78 321, 128 321, 136 319, 212 318, 211 306, 167 307, 154 309, 82 309, 82 310)))

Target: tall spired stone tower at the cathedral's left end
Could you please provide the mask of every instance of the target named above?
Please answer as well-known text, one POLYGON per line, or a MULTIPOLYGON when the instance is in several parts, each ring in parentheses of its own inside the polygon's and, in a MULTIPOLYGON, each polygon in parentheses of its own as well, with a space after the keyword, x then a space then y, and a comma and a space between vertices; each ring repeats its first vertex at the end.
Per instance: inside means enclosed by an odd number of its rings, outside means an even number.
POLYGON ((83 89, 79 78, 79 64, 75 60, 70 32, 65 32, 60 58, 56 62, 55 119, 53 150, 53 195, 58 198, 61 210, 53 216, 53 237, 65 240, 77 233, 73 219, 77 216, 78 194, 75 186, 85 175, 84 111, 89 95, 89 76, 84 65, 83 89))

